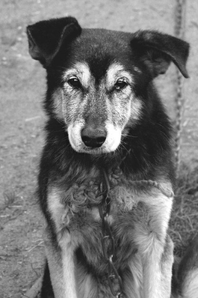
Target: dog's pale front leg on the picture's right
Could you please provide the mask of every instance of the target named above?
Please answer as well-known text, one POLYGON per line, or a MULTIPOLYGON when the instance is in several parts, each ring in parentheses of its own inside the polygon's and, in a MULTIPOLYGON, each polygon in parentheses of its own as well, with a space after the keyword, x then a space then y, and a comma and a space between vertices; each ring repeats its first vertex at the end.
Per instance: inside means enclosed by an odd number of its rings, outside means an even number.
POLYGON ((173 245, 167 229, 172 200, 154 190, 152 196, 141 198, 147 217, 144 224, 136 227, 136 239, 143 261, 143 298, 170 298, 171 295, 173 245))

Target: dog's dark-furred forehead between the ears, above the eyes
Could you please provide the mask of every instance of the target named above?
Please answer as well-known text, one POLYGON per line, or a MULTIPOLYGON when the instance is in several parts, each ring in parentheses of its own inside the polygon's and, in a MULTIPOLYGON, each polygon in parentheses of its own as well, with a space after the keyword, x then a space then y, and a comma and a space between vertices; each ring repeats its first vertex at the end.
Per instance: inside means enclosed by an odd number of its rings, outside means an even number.
MULTIPOLYGON (((72 65, 84 64, 94 75, 96 80, 106 75, 129 68, 132 50, 130 47, 130 33, 105 29, 83 29, 71 47, 72 65)), ((82 69, 82 68, 81 68, 82 69)))

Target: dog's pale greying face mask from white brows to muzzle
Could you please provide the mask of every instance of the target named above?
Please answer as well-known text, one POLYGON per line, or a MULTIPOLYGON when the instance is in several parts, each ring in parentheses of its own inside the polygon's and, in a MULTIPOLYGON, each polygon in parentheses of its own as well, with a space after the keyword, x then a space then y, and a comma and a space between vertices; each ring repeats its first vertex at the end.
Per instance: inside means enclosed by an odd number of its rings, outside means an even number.
POLYGON ((141 112, 132 89, 132 73, 112 62, 97 82, 86 61, 64 73, 60 117, 72 148, 78 152, 111 152, 118 148, 129 121, 141 112))

